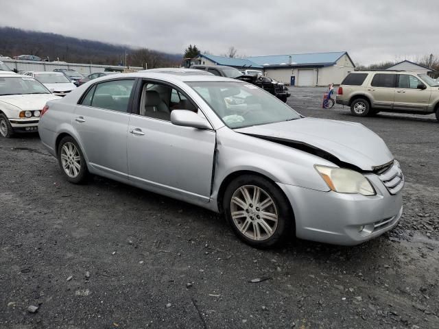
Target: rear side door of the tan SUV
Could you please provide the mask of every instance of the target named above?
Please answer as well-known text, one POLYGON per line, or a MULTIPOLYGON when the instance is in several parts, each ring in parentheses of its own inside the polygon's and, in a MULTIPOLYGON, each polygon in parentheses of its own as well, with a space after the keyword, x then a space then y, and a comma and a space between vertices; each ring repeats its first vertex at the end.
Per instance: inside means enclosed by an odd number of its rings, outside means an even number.
POLYGON ((392 109, 395 97, 396 74, 375 73, 367 91, 373 99, 376 108, 392 109))

